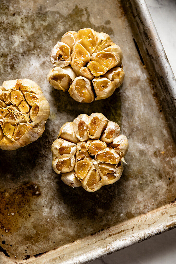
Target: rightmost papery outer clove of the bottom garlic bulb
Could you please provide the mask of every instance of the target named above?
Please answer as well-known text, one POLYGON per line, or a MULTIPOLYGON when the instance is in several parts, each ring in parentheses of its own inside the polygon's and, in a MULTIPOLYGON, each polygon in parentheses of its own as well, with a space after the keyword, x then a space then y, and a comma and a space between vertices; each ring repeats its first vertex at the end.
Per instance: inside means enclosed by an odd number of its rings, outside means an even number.
POLYGON ((109 144, 110 147, 114 148, 119 155, 124 158, 128 152, 128 139, 124 135, 118 135, 113 139, 113 142, 109 144))

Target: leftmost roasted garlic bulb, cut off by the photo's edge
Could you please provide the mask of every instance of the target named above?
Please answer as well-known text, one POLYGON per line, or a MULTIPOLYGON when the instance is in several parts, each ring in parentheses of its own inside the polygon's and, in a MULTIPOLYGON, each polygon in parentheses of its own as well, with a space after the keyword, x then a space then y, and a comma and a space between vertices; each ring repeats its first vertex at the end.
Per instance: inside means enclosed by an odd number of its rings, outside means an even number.
POLYGON ((49 103, 35 82, 10 80, 0 87, 0 148, 14 150, 35 141, 45 130, 49 103))

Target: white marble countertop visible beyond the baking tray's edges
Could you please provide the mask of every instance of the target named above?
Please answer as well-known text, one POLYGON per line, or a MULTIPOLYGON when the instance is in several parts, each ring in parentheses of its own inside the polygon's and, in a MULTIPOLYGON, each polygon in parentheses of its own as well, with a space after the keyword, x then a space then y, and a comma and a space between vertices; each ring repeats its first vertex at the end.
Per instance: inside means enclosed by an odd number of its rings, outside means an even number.
MULTIPOLYGON (((146 0, 176 76, 176 0, 146 0)), ((92 264, 174 264, 176 229, 125 248, 92 264)))

